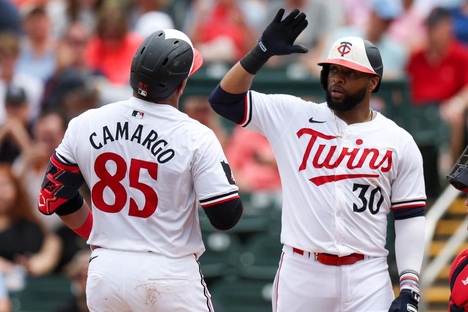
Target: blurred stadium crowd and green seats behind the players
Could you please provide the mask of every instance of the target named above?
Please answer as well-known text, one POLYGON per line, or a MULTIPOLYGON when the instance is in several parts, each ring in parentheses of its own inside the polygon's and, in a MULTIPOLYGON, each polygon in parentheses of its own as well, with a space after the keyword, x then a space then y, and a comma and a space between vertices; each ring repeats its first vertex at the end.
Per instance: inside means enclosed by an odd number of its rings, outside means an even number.
MULTIPOLYGON (((379 48, 383 83, 371 107, 409 131, 424 158, 421 311, 447 311, 449 264, 468 248, 465 198, 445 178, 467 145, 468 0, 0 0, 0 312, 88 311, 89 247, 56 215, 40 215, 37 195, 68 121, 130 98, 133 54, 164 28, 185 32, 204 58, 179 108, 214 130, 244 203, 229 232, 199 215, 215 311, 271 311, 282 205, 273 153, 265 137, 215 115, 208 95, 280 7, 307 14, 296 42, 309 53, 270 59, 256 91, 322 102, 316 63, 335 39, 379 48)), ((89 203, 89 190, 81 194, 89 203)), ((398 291, 391 215, 387 232, 398 291)))

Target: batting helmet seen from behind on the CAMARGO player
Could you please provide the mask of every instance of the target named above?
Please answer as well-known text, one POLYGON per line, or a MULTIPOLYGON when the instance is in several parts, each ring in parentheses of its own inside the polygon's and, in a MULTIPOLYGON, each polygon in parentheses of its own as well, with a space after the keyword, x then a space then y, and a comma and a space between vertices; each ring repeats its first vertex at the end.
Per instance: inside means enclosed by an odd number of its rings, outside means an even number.
POLYGON ((202 63, 200 53, 184 33, 159 30, 148 36, 135 53, 130 85, 143 98, 168 98, 202 63))

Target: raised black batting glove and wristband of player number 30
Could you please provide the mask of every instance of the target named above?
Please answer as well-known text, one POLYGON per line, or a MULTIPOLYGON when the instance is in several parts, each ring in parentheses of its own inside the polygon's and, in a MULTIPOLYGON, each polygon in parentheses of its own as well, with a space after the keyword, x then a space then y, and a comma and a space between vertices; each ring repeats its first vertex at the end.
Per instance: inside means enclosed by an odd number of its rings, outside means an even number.
POLYGON ((309 23, 306 15, 299 13, 298 9, 292 10, 284 20, 281 20, 283 15, 284 9, 280 9, 263 32, 258 44, 240 60, 242 67, 250 74, 255 75, 273 55, 308 52, 305 46, 293 45, 309 23))

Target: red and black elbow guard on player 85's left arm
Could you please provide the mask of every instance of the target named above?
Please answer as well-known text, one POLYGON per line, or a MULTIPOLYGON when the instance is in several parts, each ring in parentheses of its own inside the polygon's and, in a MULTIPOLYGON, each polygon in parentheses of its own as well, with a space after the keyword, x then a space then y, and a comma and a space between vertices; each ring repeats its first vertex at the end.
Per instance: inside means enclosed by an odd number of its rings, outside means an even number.
POLYGON ((58 209, 59 215, 77 211, 83 205, 83 197, 78 193, 83 182, 78 165, 63 162, 54 152, 42 181, 39 211, 44 215, 52 215, 58 209))

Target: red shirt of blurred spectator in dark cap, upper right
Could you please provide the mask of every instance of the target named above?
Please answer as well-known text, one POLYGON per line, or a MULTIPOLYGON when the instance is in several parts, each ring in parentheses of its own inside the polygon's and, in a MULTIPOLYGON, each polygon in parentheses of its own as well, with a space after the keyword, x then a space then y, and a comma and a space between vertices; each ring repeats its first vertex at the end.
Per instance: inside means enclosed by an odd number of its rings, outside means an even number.
POLYGON ((468 48, 453 41, 436 64, 429 64, 425 51, 417 52, 409 59, 408 74, 414 105, 445 101, 468 86, 468 48))

